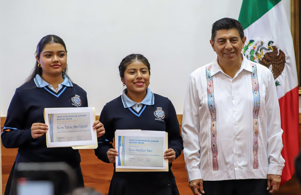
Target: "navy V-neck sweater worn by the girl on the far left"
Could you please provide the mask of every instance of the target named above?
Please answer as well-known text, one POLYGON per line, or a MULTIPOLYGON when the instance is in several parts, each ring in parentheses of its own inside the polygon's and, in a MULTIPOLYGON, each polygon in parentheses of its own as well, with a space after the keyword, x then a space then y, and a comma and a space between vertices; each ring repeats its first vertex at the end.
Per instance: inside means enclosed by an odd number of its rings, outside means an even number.
POLYGON ((80 163, 78 150, 71 147, 47 148, 45 134, 33 139, 31 126, 33 123, 45 123, 44 108, 87 106, 87 93, 78 85, 63 86, 55 93, 48 87, 38 88, 33 80, 26 82, 16 89, 11 100, 1 134, 2 144, 5 148, 19 148, 18 153, 29 161, 63 161, 77 167, 80 163), (81 104, 72 101, 75 95, 79 96, 81 104))

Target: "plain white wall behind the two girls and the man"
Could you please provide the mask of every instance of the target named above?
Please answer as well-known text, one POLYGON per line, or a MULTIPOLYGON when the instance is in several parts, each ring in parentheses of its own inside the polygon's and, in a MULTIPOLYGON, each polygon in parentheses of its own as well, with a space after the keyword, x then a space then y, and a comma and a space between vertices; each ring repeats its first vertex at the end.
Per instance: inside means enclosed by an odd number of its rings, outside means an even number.
MULTIPOLYGON (((287 3, 288 17, 290 0, 287 3)), ((151 63, 154 93, 168 97, 182 114, 189 74, 211 62, 211 25, 238 19, 242 0, 1 0, 0 116, 6 116, 15 88, 29 76, 39 40, 63 38, 69 75, 88 93, 99 115, 123 86, 118 65, 128 54, 151 63)))

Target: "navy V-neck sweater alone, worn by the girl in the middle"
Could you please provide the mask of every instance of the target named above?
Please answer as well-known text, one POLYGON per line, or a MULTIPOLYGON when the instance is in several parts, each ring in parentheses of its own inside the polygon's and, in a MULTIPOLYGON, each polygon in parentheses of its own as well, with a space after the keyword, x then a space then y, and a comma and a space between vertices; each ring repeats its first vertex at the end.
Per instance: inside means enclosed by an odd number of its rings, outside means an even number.
POLYGON ((168 98, 154 94, 154 99, 154 105, 144 105, 139 113, 134 109, 124 108, 121 96, 104 106, 99 121, 104 124, 106 133, 98 138, 98 148, 95 149, 95 155, 99 159, 110 162, 107 158, 107 151, 113 148, 110 142, 113 141, 116 129, 166 131, 168 132, 168 148, 176 152, 176 158, 181 155, 183 140, 175 108, 168 98), (160 109, 164 111, 165 116, 155 115, 155 111, 160 109), (140 116, 137 116, 139 114, 140 116))

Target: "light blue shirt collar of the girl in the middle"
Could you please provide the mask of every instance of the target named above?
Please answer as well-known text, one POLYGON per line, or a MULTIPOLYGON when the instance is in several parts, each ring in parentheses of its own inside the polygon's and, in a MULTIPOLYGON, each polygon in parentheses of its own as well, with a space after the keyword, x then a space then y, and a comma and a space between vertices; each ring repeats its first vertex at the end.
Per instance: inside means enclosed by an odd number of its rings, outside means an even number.
MULTIPOLYGON (((132 106, 134 106, 135 104, 137 104, 137 102, 134 102, 132 101, 127 95, 127 89, 125 88, 123 91, 122 91, 122 95, 121 95, 121 100, 122 100, 122 103, 123 103, 123 107, 124 108, 130 108, 132 106)), ((151 92, 151 90, 149 88, 146 89, 146 96, 145 98, 143 99, 143 101, 141 102, 141 104, 144 104, 144 105, 154 105, 155 104, 155 101, 154 101, 154 94, 153 92, 151 92)))

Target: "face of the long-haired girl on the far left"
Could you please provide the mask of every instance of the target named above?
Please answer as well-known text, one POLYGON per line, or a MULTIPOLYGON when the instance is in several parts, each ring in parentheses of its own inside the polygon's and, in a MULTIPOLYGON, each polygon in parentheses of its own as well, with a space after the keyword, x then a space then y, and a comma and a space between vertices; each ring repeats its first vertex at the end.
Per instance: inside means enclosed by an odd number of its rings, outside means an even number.
MULTIPOLYGON (((37 56, 36 56, 37 58, 37 56)), ((61 75, 67 65, 67 52, 59 43, 49 43, 45 46, 37 61, 43 70, 42 76, 61 75)))

